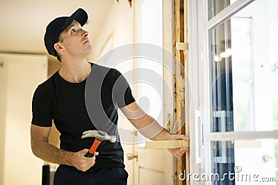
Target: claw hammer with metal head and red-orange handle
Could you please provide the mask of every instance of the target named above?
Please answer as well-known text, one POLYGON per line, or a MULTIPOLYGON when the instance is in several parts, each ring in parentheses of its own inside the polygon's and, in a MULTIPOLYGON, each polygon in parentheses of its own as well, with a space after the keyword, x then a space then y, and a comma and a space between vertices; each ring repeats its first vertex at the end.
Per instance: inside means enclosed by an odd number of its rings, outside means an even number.
POLYGON ((116 136, 109 136, 106 132, 99 130, 87 130, 83 132, 81 138, 83 139, 87 137, 95 137, 95 141, 92 143, 90 150, 84 155, 85 157, 94 157, 95 151, 97 150, 97 147, 101 141, 108 140, 111 143, 115 143, 116 141, 116 136))

